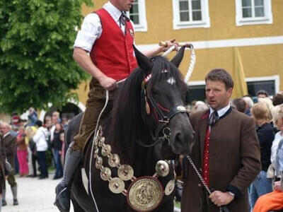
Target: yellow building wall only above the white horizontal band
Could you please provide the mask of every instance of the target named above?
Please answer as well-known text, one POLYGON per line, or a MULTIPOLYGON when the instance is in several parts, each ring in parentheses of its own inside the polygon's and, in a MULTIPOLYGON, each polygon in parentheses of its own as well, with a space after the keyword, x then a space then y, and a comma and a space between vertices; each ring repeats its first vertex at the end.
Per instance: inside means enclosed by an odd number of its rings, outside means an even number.
MULTIPOLYGON (((178 1, 178 0, 175 0, 178 1)), ((94 8, 83 6, 83 16, 100 8, 107 1, 93 1, 94 8)), ((173 30, 172 0, 146 0, 147 32, 136 33, 137 45, 158 43, 159 40, 174 37, 178 41, 221 40, 246 37, 266 37, 283 34, 283 1, 272 0, 272 24, 236 26, 236 5, 234 0, 209 1, 210 28, 189 28, 173 30)))

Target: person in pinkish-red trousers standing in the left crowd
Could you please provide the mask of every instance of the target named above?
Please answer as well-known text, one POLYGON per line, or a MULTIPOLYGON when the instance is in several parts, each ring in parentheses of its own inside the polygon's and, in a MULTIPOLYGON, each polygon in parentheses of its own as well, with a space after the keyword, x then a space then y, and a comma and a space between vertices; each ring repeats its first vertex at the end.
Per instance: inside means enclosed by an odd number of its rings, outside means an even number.
POLYGON ((28 176, 28 148, 25 143, 25 128, 23 126, 18 130, 17 136, 17 155, 18 155, 18 164, 20 167, 20 176, 26 177, 28 176))

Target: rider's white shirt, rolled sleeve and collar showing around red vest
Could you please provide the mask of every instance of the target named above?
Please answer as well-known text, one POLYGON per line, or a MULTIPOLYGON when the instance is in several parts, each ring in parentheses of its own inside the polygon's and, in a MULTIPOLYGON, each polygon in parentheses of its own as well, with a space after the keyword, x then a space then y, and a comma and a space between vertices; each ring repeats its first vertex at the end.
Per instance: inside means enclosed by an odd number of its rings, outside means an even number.
MULTIPOLYGON (((117 25, 121 27, 122 33, 125 33, 125 25, 120 26, 119 23, 119 18, 122 12, 113 6, 109 1, 103 5, 103 8, 108 11, 117 25)), ((132 25, 134 26, 134 23, 132 23, 132 25)), ((76 35, 74 47, 80 47, 81 49, 86 50, 86 52, 91 52, 94 42, 96 42, 96 39, 100 37, 102 31, 103 29, 98 14, 89 13, 83 19, 81 30, 79 30, 78 34, 76 35)))

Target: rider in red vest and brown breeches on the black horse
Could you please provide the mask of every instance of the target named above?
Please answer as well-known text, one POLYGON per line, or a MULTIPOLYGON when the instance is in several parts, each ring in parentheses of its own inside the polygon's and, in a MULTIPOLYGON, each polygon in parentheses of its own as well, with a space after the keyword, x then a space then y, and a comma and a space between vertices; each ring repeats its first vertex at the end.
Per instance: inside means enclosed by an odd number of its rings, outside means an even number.
MULTIPOLYGON (((105 90, 109 91, 110 101, 103 112, 102 119, 112 108, 117 82, 127 78, 137 68, 133 48, 134 24, 125 16, 125 11, 129 11, 133 2, 134 0, 108 1, 103 8, 84 18, 81 30, 76 37, 73 57, 83 70, 91 74, 92 78, 79 134, 74 137, 74 142, 67 151, 64 176, 56 188, 55 204, 60 211, 69 211, 68 187, 81 161, 83 146, 95 129, 98 116, 103 109, 105 90)), ((167 42, 167 46, 171 47, 172 42, 167 42)), ((144 54, 152 57, 167 48, 156 47, 144 54)))

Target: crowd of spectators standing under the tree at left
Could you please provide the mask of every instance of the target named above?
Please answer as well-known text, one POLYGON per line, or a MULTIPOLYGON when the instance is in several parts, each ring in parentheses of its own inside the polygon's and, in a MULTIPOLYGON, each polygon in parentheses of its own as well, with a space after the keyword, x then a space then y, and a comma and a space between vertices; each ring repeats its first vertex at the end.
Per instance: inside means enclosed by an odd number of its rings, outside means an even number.
POLYGON ((68 122, 66 117, 60 119, 59 112, 47 115, 42 122, 33 108, 28 110, 28 119, 13 112, 10 123, 0 122, 0 211, 7 204, 6 182, 11 186, 13 205, 18 205, 15 175, 46 179, 48 170, 54 168, 53 179, 63 176, 64 130, 68 122))

